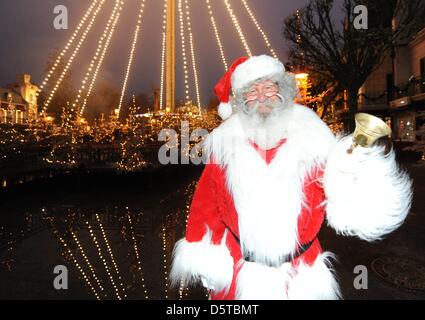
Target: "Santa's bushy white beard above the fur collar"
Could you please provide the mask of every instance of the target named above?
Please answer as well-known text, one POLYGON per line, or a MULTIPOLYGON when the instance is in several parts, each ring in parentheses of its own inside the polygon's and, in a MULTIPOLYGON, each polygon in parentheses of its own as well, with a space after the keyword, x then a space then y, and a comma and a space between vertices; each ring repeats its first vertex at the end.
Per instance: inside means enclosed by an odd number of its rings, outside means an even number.
POLYGON ((291 107, 277 104, 266 116, 257 111, 247 114, 243 108, 240 110, 240 119, 248 139, 255 142, 261 149, 271 149, 281 139, 286 138, 293 117, 291 107))

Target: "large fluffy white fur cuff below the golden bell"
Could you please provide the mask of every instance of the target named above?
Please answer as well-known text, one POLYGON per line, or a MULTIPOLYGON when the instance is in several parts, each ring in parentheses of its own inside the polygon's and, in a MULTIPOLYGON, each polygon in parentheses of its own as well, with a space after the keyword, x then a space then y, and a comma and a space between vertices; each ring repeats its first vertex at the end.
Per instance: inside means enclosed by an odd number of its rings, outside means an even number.
POLYGON ((398 228, 409 212, 412 182, 400 170, 392 150, 357 147, 346 150, 352 136, 340 139, 331 152, 324 174, 327 221, 338 233, 367 241, 398 228))

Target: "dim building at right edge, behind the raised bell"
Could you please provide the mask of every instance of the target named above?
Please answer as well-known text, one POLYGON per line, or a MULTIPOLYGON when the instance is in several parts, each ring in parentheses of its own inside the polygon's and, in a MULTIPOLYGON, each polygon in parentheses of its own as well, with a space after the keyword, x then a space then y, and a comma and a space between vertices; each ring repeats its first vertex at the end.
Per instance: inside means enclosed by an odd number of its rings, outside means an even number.
POLYGON ((392 128, 393 139, 417 139, 425 111, 425 28, 409 43, 394 48, 359 92, 359 111, 375 114, 392 128))

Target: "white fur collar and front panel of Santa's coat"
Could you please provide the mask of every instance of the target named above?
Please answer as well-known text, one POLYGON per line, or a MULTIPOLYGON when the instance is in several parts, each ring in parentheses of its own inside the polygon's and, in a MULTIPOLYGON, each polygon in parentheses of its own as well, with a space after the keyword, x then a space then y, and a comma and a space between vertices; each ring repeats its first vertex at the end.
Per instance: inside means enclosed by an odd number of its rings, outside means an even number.
POLYGON ((236 113, 205 140, 207 153, 226 168, 227 188, 238 212, 244 254, 277 265, 299 245, 297 221, 304 204, 305 178, 324 167, 335 137, 311 109, 285 111, 279 138, 286 138, 267 165, 248 142, 236 113))

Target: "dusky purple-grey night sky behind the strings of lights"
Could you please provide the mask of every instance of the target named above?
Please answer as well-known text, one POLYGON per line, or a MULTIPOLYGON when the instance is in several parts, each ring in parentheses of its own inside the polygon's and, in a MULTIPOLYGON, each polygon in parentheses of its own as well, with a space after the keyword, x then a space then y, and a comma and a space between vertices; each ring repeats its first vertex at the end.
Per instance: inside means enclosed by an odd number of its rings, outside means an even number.
MULTIPOLYGON (((112 11, 113 2, 112 0, 106 1, 95 27, 80 51, 80 56, 74 61, 71 70, 72 80, 76 86, 80 83, 82 73, 85 72, 91 55, 94 53, 98 37, 112 11)), ((192 28, 194 29, 201 100, 203 104, 206 104, 213 96, 212 88, 224 73, 224 67, 219 57, 205 1, 192 0, 190 2, 192 3, 192 28)), ((308 3, 308 0, 248 0, 247 2, 255 12, 260 25, 268 34, 273 48, 278 52, 279 57, 285 61, 287 45, 282 36, 283 20, 297 8, 308 3)), ((4 87, 14 82, 15 75, 21 72, 30 73, 33 82, 39 84, 45 75, 49 53, 55 48, 62 48, 65 45, 90 3, 91 1, 88 0, 2 0, 0 2, 0 13, 2 14, 2 19, 0 19, 0 86, 4 87), (55 17, 53 8, 61 4, 67 6, 69 10, 69 30, 56 30, 53 27, 55 17)), ((212 3, 225 55, 230 64, 235 58, 245 53, 227 14, 224 2, 212 0, 212 3)), ((249 19, 241 0, 231 0, 230 3, 240 20, 253 54, 268 53, 263 39, 249 19)), ((139 4, 139 0, 126 1, 122 18, 112 39, 98 82, 105 81, 121 88, 139 4)), ((152 85, 159 86, 161 27, 162 1, 146 0, 142 31, 129 79, 128 95, 140 92, 150 94, 152 85)), ((177 96, 181 98, 183 68, 179 36, 177 36, 176 52, 177 96)), ((191 95, 195 97, 194 86, 192 86, 191 92, 191 95)))

